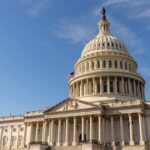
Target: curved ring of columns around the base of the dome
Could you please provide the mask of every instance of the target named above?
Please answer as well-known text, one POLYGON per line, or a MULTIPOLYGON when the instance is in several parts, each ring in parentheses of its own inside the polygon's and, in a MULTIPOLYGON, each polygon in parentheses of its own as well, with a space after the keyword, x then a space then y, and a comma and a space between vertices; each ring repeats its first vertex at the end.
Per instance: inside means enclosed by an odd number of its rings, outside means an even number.
POLYGON ((144 83, 127 77, 93 77, 70 85, 73 98, 98 94, 122 94, 145 99, 144 83))

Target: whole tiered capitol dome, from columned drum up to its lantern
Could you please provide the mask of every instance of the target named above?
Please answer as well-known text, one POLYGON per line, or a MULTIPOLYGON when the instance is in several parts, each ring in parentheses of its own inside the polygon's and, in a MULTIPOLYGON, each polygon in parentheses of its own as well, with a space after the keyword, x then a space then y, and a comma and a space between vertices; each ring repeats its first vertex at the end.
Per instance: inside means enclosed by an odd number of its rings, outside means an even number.
POLYGON ((125 44, 109 31, 105 13, 99 33, 88 42, 69 80, 70 97, 89 102, 145 99, 143 77, 125 44))

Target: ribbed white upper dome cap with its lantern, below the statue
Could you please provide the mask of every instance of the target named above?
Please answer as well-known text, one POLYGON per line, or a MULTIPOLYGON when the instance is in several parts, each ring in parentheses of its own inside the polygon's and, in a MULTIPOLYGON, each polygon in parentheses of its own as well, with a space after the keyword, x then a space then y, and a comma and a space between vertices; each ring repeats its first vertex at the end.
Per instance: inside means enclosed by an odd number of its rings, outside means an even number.
POLYGON ((110 23, 107 20, 101 20, 98 26, 98 35, 85 45, 81 56, 104 50, 128 53, 125 44, 109 32, 110 23))

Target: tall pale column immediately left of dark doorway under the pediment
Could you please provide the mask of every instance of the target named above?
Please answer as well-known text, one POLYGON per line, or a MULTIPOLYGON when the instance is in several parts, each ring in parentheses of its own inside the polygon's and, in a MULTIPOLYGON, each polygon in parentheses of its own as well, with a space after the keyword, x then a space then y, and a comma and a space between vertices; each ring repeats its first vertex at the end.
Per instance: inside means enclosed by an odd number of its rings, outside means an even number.
POLYGON ((76 146, 77 145, 77 119, 76 117, 73 118, 73 142, 72 145, 76 146))

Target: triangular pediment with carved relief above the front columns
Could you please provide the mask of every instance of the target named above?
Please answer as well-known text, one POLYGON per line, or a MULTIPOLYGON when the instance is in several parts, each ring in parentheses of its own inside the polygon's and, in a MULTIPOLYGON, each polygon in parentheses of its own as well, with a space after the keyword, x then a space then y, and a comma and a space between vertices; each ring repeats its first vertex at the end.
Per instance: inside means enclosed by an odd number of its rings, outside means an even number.
POLYGON ((94 105, 89 102, 67 98, 60 103, 46 109, 43 113, 50 113, 50 112, 61 112, 61 111, 73 111, 79 109, 88 109, 88 108, 98 108, 97 105, 94 105))

